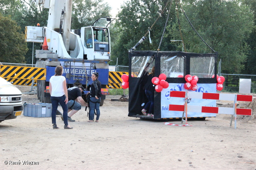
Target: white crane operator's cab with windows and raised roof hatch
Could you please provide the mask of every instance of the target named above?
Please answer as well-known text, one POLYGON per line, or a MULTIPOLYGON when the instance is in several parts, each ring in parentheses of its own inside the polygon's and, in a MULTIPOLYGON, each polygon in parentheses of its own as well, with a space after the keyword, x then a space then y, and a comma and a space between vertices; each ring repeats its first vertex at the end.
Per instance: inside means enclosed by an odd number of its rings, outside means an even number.
POLYGON ((84 59, 110 61, 109 25, 113 18, 99 18, 90 27, 81 28, 84 59))

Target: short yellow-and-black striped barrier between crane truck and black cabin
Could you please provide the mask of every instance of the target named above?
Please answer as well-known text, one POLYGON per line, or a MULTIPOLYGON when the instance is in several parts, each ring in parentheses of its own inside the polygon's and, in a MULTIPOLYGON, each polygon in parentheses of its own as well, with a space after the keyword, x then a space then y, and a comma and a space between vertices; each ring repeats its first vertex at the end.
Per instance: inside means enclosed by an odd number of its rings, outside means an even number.
POLYGON ((115 89, 122 89, 122 78, 123 74, 127 74, 128 72, 115 72, 110 71, 108 73, 108 86, 107 88, 115 88, 115 89))

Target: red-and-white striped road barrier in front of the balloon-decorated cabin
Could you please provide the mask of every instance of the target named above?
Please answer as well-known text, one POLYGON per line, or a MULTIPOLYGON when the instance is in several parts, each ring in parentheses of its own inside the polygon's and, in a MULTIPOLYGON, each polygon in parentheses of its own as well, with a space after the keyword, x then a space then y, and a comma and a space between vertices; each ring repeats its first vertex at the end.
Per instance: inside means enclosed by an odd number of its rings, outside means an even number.
POLYGON ((252 115, 252 109, 237 108, 237 101, 252 102, 252 95, 242 94, 220 94, 220 93, 201 93, 201 92, 186 92, 184 91, 170 91, 170 97, 185 98, 184 105, 169 105, 169 111, 183 111, 182 122, 184 121, 184 113, 186 113, 185 121, 187 124, 187 112, 202 112, 202 113, 216 113, 229 114, 231 116, 230 126, 234 117, 236 129, 236 115, 252 115), (234 101, 234 107, 208 107, 208 106, 188 106, 188 98, 194 99, 208 99, 208 100, 229 100, 234 101))

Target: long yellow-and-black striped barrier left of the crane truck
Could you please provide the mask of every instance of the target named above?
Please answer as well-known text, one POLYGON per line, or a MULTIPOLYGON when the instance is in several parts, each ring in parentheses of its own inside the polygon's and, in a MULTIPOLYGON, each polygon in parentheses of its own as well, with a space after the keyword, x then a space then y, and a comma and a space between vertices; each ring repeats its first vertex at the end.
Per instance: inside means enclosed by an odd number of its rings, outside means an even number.
POLYGON ((46 80, 46 68, 1 65, 0 76, 23 80, 46 80))

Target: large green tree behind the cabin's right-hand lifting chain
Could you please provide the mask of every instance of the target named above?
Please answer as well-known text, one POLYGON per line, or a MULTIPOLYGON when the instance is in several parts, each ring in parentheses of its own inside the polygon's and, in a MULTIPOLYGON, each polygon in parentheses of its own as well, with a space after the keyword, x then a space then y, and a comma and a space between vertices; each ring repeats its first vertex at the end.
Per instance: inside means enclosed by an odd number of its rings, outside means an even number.
MULTIPOLYGON (((253 27, 248 6, 241 0, 185 0, 182 5, 199 35, 218 52, 222 73, 240 73, 249 49, 246 39, 253 27)), ((193 31, 184 14, 179 16, 187 51, 213 53, 193 31)), ((175 38, 180 37, 178 21, 169 31, 175 38)))

